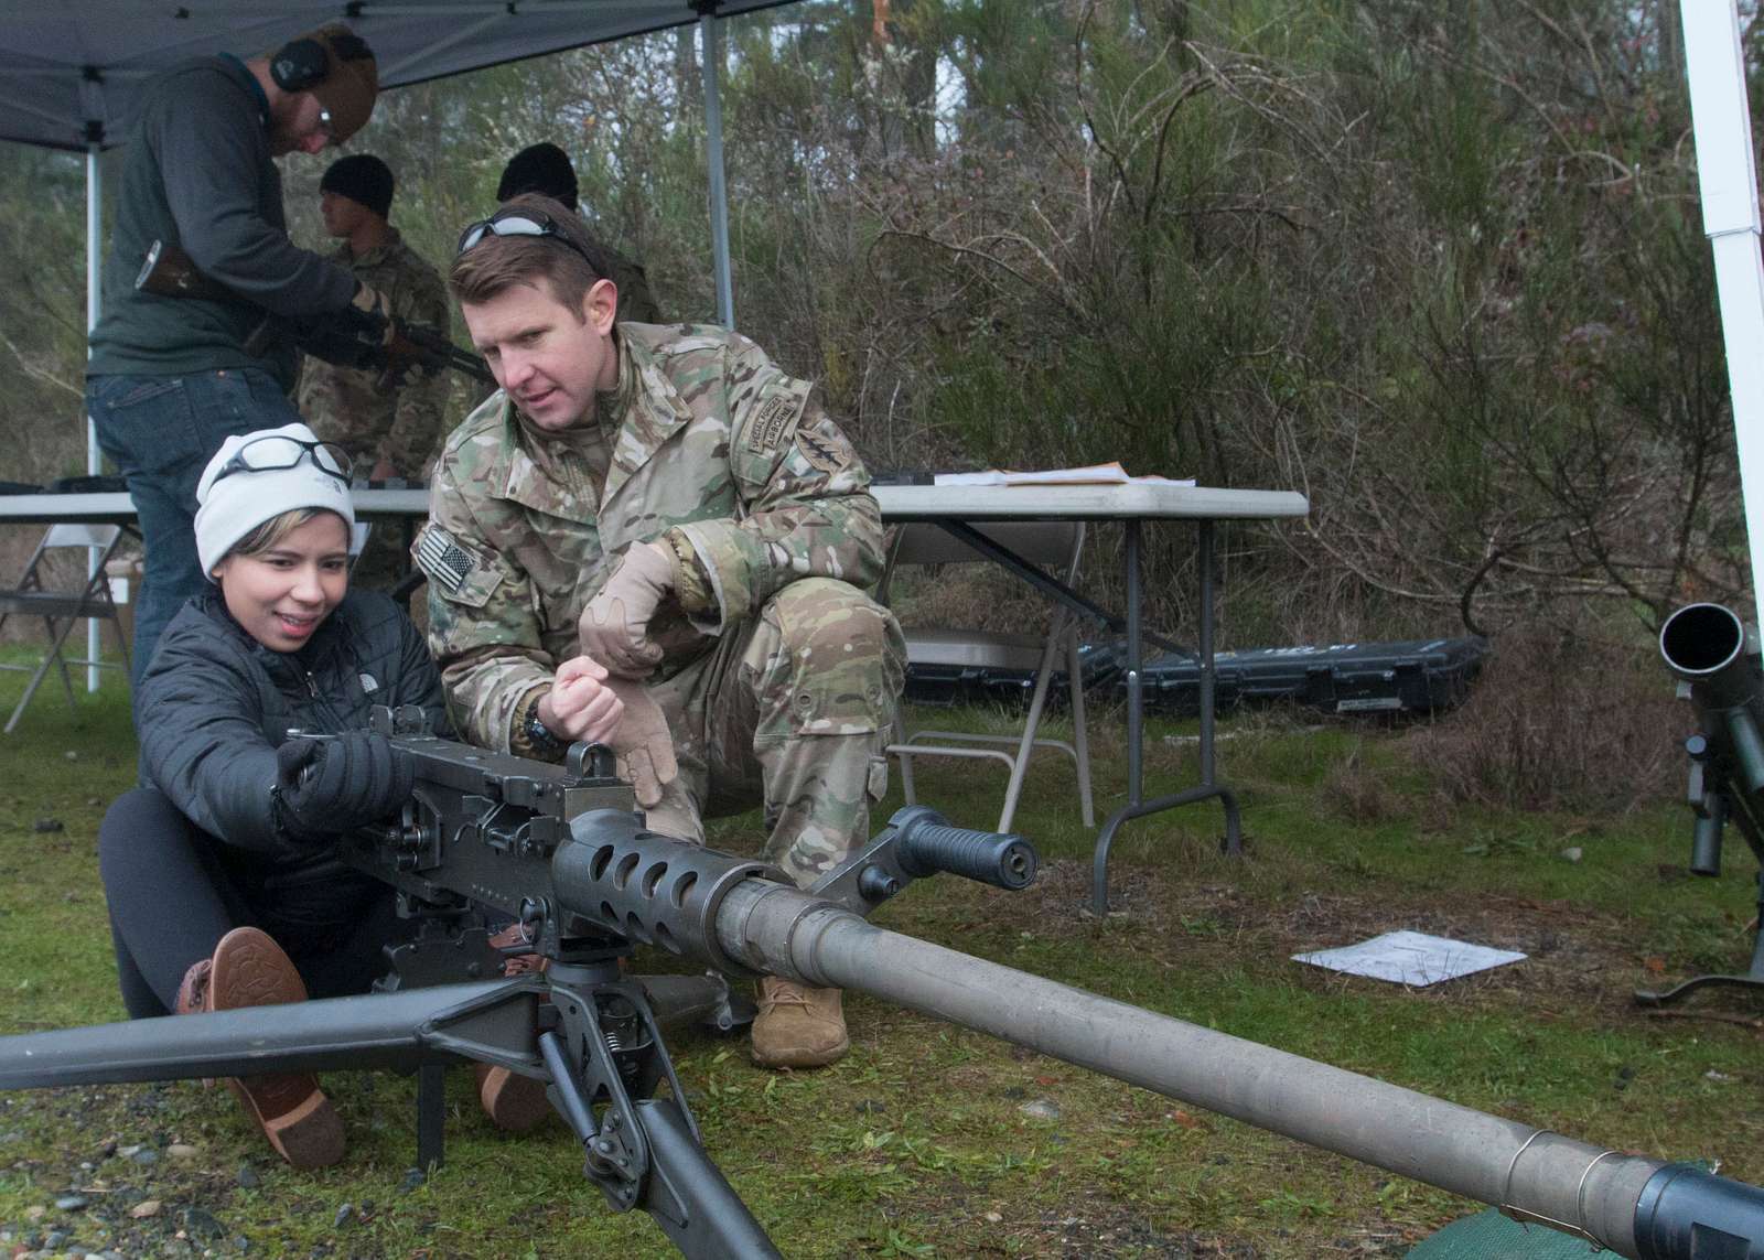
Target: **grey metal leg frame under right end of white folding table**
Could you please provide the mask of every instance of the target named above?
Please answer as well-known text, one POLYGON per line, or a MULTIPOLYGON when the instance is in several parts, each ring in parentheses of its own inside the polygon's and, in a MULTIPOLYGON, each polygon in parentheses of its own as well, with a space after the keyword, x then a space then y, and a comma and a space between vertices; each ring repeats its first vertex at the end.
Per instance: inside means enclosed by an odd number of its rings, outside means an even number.
POLYGON ((1097 833, 1095 856, 1090 874, 1090 909, 1094 914, 1108 914, 1108 851, 1115 842, 1115 833, 1131 819, 1143 819, 1148 814, 1173 810, 1178 805, 1192 805, 1219 798, 1224 806, 1224 851, 1233 858, 1242 856, 1244 838, 1238 821, 1237 794, 1214 778, 1214 581, 1212 581, 1212 544, 1214 522, 1200 522, 1200 565, 1201 565, 1201 609, 1200 609, 1200 671, 1201 671, 1201 782, 1185 792, 1145 799, 1143 778, 1143 741, 1145 708, 1143 678, 1140 660, 1140 522, 1127 522, 1127 805, 1115 810, 1110 821, 1097 833))

